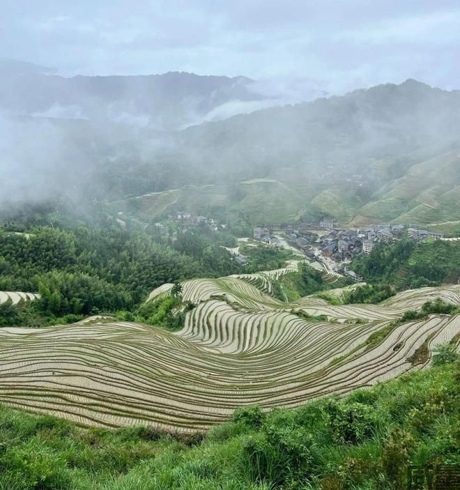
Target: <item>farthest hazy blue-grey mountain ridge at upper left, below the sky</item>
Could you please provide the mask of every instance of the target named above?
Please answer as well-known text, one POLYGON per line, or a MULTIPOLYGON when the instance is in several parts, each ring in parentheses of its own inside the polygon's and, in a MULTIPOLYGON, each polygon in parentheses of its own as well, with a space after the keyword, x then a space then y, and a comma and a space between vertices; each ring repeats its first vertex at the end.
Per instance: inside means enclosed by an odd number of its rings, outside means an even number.
POLYGON ((66 78, 47 71, 31 63, 0 62, 0 109, 29 116, 177 130, 201 123, 207 114, 229 103, 266 99, 251 89, 254 81, 247 77, 168 72, 66 78))

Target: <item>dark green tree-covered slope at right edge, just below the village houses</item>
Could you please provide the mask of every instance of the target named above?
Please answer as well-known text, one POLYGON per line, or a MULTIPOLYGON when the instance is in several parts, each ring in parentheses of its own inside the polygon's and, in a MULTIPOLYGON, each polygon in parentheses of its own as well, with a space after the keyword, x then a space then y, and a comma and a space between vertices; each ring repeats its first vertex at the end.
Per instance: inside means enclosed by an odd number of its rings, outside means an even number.
POLYGON ((416 243, 407 238, 391 245, 378 243, 369 255, 358 257, 351 266, 366 282, 394 284, 399 289, 457 282, 460 243, 416 243))

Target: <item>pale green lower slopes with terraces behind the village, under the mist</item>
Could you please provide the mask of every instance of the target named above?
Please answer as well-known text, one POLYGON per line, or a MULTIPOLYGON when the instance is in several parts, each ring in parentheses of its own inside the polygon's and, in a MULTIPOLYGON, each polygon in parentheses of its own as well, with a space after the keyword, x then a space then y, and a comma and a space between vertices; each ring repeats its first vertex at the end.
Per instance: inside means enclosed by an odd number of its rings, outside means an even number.
MULTIPOLYGON (((112 210, 160 218, 176 210, 210 213, 213 208, 239 211, 254 223, 290 222, 300 217, 332 216, 342 224, 362 227, 376 222, 436 224, 460 220, 460 158, 458 151, 430 160, 409 155, 403 162, 369 160, 369 170, 383 184, 328 181, 305 176, 296 164, 273 171, 276 178, 252 178, 240 183, 187 185, 116 201, 112 210), (396 169, 396 170, 395 170, 396 169), (369 187, 370 186, 370 187, 369 187), (368 188, 369 187, 369 188, 368 188), (370 189, 370 190, 369 190, 370 189), (372 192, 374 192, 372 194, 372 192)), ((452 233, 452 227, 446 232, 452 233)))

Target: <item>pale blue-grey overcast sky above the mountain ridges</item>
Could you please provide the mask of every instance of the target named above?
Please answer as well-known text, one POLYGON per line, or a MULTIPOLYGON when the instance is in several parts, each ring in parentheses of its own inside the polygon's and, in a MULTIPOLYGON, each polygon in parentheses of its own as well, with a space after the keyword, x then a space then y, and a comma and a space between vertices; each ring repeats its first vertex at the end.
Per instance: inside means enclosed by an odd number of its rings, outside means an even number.
POLYGON ((459 0, 1 0, 0 36, 0 56, 63 75, 460 88, 459 0))

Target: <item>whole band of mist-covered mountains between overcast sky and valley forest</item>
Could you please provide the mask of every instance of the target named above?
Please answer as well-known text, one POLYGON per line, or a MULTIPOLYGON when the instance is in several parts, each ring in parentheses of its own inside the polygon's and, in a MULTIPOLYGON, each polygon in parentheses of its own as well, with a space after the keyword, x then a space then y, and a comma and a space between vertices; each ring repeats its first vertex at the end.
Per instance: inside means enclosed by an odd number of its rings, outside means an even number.
POLYGON ((408 79, 251 112, 274 100, 245 77, 2 66, 3 202, 136 198, 151 217, 226 206, 257 222, 396 220, 426 202, 414 219, 459 213, 460 91, 408 79), (401 179, 410 191, 394 191, 401 179))

